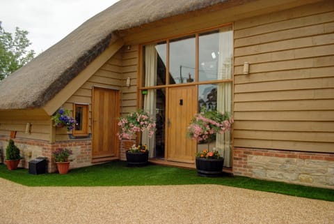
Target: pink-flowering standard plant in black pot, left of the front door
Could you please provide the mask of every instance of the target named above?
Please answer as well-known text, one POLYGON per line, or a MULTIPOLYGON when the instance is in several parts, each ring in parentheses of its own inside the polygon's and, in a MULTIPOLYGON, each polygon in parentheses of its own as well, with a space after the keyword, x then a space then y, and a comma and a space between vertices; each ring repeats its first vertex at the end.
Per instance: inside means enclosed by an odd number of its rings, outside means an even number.
MULTIPOLYGON (((137 110, 127 115, 127 117, 121 117, 118 122, 120 127, 117 133, 118 138, 131 140, 134 135, 138 136, 143 131, 148 132, 148 137, 152 137, 155 131, 155 121, 149 112, 144 110, 137 110)), ((127 156, 127 165, 146 165, 148 163, 148 148, 143 144, 134 144, 129 150, 125 152, 127 156)))

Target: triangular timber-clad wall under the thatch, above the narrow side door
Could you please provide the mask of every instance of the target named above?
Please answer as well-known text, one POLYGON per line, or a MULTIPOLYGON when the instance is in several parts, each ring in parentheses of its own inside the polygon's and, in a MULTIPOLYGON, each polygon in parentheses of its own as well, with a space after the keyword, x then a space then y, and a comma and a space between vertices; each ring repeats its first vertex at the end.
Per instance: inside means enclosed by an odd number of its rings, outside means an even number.
MULTIPOLYGON (((74 103, 84 103, 89 105, 89 133, 91 133, 92 118, 92 91, 93 86, 105 88, 122 88, 122 49, 97 72, 90 77, 64 104, 64 107, 73 110, 74 103)), ((56 128, 56 141, 68 140, 66 128, 56 128)))

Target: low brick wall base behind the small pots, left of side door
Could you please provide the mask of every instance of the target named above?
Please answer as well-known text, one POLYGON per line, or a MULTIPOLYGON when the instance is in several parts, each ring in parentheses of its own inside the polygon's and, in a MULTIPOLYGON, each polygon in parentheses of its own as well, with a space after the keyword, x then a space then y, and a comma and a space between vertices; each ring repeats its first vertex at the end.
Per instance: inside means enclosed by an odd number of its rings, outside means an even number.
MULTIPOLYGON (((5 156, 8 140, 8 137, 0 137, 0 150, 2 151, 3 156, 5 156)), ((19 163, 19 167, 28 169, 30 160, 37 157, 47 157, 48 172, 56 172, 57 168, 56 163, 54 163, 52 152, 60 148, 68 148, 73 151, 73 155, 70 156, 70 159, 72 160, 70 169, 92 165, 90 162, 92 151, 91 140, 70 140, 65 142, 55 142, 54 144, 42 140, 26 140, 20 138, 15 138, 13 140, 15 145, 20 149, 21 156, 23 157, 19 163), (29 153, 31 156, 29 156, 29 153)))

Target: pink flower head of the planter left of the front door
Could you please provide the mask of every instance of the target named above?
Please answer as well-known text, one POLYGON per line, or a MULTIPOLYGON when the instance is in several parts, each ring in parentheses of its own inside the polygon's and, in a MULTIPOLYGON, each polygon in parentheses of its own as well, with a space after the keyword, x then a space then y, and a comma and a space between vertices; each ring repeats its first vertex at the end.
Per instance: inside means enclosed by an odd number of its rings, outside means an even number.
POLYGON ((120 140, 122 138, 132 139, 138 132, 148 131, 148 137, 152 137, 155 131, 155 121, 150 113, 143 110, 132 112, 127 117, 121 117, 118 121, 120 127, 117 136, 120 140))

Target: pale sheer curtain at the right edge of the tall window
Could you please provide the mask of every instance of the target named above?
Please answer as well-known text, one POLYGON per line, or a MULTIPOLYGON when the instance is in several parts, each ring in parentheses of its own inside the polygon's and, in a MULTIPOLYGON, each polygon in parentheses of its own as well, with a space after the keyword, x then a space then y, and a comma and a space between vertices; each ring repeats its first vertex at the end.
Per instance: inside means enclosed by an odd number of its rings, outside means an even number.
MULTIPOLYGON (((219 31, 218 80, 232 79, 232 27, 224 27, 219 31)), ((232 112, 232 82, 219 83, 217 87, 217 110, 232 112)), ((224 166, 231 167, 232 133, 218 134, 216 148, 224 157, 224 166)))

